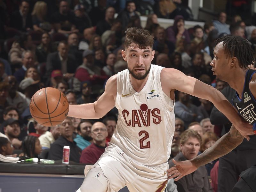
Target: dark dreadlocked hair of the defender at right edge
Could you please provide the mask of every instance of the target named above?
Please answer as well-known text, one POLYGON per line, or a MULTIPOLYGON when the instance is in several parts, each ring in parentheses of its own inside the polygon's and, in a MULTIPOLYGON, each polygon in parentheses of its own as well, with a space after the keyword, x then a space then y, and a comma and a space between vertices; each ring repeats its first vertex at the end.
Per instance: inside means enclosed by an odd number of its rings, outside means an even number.
POLYGON ((216 44, 223 42, 227 57, 236 57, 240 68, 248 68, 254 62, 253 51, 248 40, 240 36, 225 35, 216 40, 216 44))

